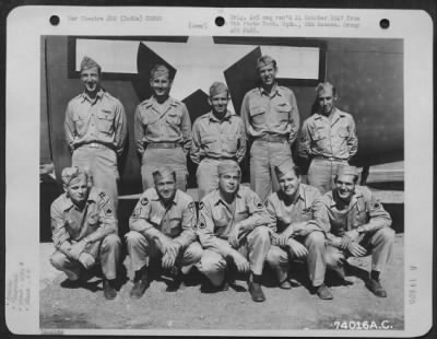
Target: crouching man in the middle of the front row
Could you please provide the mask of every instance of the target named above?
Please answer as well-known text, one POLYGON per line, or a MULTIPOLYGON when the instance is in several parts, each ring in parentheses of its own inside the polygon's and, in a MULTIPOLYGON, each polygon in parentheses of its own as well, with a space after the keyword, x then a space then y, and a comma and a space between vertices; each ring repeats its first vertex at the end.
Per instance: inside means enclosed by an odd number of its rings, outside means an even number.
POLYGON ((270 248, 270 218, 256 192, 240 186, 241 172, 232 160, 218 164, 218 189, 199 204, 198 235, 204 249, 199 270, 214 287, 225 282, 227 262, 250 272, 252 300, 263 302, 261 273, 270 248))

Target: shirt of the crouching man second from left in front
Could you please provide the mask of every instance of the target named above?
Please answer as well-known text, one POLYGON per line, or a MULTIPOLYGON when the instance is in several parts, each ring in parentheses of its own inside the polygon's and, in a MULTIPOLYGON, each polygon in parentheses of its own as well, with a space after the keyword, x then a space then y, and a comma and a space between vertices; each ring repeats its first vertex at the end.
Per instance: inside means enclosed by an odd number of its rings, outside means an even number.
POLYGON ((142 234, 156 229, 178 242, 184 248, 194 239, 197 224, 196 206, 192 198, 177 189, 166 209, 155 188, 146 189, 138 201, 129 219, 129 227, 142 234))

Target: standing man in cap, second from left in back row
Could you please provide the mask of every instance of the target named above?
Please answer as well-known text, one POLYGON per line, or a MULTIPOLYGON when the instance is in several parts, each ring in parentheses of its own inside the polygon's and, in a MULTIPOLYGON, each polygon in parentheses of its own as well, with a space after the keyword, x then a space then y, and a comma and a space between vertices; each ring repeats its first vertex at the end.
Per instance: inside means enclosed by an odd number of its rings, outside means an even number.
POLYGON ((187 154, 191 148, 191 120, 184 103, 169 96, 173 79, 167 67, 151 71, 151 98, 138 105, 134 138, 141 155, 143 190, 154 186, 152 173, 160 166, 176 172, 176 188, 187 190, 187 154))

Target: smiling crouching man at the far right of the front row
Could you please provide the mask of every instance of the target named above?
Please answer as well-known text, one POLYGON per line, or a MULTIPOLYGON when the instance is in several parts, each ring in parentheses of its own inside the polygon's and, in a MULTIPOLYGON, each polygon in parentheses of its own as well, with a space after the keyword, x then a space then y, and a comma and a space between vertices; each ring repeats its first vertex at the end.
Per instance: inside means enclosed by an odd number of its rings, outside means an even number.
POLYGON ((344 276, 349 256, 371 255, 371 272, 366 287, 377 296, 387 296, 379 274, 390 259, 394 242, 391 218, 367 187, 357 186, 356 167, 342 166, 335 188, 315 203, 314 221, 328 237, 327 266, 344 276))

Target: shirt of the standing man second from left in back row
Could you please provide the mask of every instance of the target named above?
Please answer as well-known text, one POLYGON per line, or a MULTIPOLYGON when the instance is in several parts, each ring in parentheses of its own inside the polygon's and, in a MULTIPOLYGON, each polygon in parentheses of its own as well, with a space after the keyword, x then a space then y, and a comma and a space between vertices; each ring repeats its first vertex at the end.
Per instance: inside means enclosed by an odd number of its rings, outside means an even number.
POLYGON ((137 150, 144 153, 147 143, 179 143, 186 152, 191 148, 191 119, 184 103, 168 97, 167 108, 161 113, 152 96, 138 105, 134 116, 137 150))

